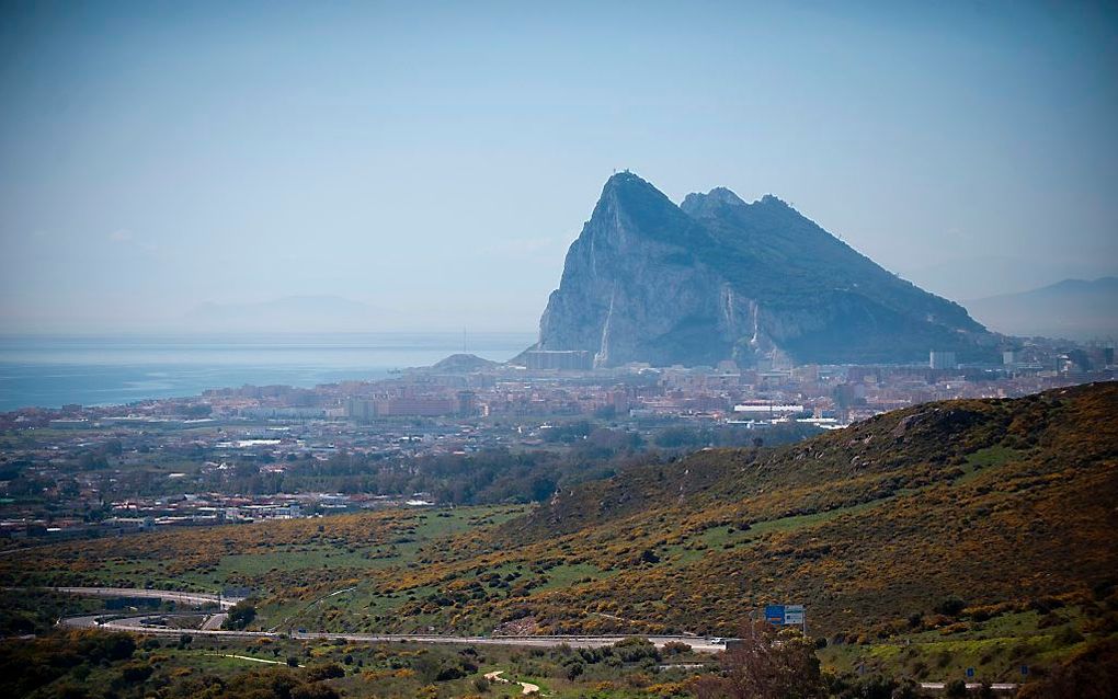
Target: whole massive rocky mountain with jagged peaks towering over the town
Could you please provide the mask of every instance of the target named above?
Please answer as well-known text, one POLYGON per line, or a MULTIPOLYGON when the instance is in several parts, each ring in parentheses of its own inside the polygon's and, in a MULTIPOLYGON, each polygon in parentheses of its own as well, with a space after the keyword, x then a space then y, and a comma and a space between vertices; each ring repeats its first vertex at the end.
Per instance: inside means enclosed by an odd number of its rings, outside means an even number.
POLYGON ((540 320, 540 349, 598 366, 915 361, 976 349, 957 304, 899 280, 775 197, 675 206, 635 174, 606 182, 540 320))

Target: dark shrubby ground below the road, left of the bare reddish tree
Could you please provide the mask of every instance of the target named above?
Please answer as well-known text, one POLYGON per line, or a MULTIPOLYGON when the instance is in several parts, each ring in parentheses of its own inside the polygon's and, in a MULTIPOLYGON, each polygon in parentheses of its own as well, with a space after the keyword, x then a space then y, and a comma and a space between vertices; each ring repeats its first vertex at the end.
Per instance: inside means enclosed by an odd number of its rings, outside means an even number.
MULTIPOLYGON (((12 607, 41 606, 44 599, 40 593, 27 593, 6 602, 11 603, 8 614, 12 607)), ((88 612, 97 602, 74 603, 70 611, 88 612)), ((667 696, 665 686, 682 687, 699 672, 661 670, 661 664, 710 662, 685 651, 662 655, 642 643, 582 653, 568 648, 238 640, 186 633, 178 639, 139 637, 121 650, 112 641, 116 635, 72 631, 0 640, 6 696, 499 698, 521 696, 518 682, 530 682, 550 697, 635 699, 667 696), (496 671, 510 682, 485 679, 496 671), (283 687, 291 689, 281 691, 283 687)))

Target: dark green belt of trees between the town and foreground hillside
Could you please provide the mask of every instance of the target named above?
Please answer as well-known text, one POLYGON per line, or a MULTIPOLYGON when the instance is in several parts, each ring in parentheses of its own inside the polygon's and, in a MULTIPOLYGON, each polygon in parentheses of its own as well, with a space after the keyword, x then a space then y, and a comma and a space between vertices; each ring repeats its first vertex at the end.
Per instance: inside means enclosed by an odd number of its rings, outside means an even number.
MULTIPOLYGON (((576 419, 541 431, 549 448, 510 451, 490 448, 473 454, 402 457, 385 454, 341 452, 325 462, 306 454, 287 456, 283 473, 260 473, 260 464, 274 461, 269 454, 248 457, 220 472, 196 473, 189 479, 169 482, 148 469, 124 470, 112 482, 103 483, 114 495, 164 495, 181 489, 239 492, 266 495, 303 490, 331 490, 345 493, 373 492, 408 495, 432 492, 442 502, 485 504, 529 502, 549 498, 560 485, 608 478, 622 465, 634 461, 657 461, 666 455, 704 446, 759 446, 784 444, 808 436, 813 429, 800 425, 776 427, 758 436, 754 431, 728 426, 694 427, 672 425, 654 429, 651 441, 637 432, 606 427, 600 422, 576 419), (552 445, 561 450, 550 448, 552 445), (665 454, 666 453, 666 454, 665 454)), ((141 451, 146 448, 140 447, 141 451)), ((172 450, 164 450, 172 454, 172 450)), ((206 450, 193 444, 180 450, 177 457, 200 462, 206 450)), ((77 453, 74 471, 105 471, 123 454, 121 440, 110 438, 77 453)), ((27 465, 27 464, 22 464, 27 465)), ((0 464, 10 478, 9 495, 35 497, 49 491, 65 495, 63 489, 77 493, 73 479, 55 482, 26 476, 20 464, 0 464)))

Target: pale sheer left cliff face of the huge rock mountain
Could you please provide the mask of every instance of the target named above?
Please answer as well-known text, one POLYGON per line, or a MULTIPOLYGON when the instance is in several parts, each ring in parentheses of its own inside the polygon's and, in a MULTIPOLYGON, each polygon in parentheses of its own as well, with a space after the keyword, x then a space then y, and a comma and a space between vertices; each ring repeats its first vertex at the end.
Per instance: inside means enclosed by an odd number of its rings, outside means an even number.
POLYGON ((615 176, 567 253, 539 347, 591 350, 600 366, 729 356, 722 280, 695 254, 713 244, 654 187, 615 176))

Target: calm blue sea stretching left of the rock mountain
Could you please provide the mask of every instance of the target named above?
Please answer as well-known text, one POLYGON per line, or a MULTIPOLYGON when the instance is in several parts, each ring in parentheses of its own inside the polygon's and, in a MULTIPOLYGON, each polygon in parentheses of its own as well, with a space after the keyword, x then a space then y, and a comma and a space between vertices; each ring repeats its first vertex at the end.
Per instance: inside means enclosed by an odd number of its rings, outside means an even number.
MULTIPOLYGON (((471 333, 466 351, 506 360, 531 333, 471 333)), ((376 379, 461 352, 457 333, 0 337, 0 410, 114 405, 254 384, 376 379)))

